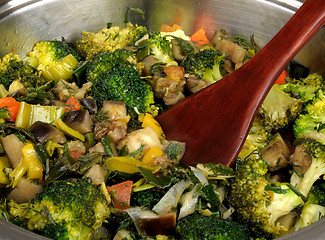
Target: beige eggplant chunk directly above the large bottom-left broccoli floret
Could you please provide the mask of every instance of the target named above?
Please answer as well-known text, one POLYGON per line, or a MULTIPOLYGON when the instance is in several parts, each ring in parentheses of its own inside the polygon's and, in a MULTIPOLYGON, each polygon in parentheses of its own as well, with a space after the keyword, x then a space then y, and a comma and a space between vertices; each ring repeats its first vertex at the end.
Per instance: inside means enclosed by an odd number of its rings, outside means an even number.
POLYGON ((16 203, 28 203, 35 198, 37 193, 43 189, 42 185, 29 181, 26 178, 20 178, 17 186, 8 194, 8 197, 16 203))

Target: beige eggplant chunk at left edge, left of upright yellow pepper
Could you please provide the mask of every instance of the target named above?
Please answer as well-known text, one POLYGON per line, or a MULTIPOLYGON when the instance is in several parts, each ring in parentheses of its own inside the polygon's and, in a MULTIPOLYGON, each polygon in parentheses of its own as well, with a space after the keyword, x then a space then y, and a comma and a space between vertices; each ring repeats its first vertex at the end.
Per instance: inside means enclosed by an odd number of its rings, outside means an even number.
POLYGON ((1 139, 2 146, 9 159, 10 165, 15 168, 20 159, 23 158, 21 149, 24 147, 24 143, 19 140, 15 134, 10 134, 1 139))

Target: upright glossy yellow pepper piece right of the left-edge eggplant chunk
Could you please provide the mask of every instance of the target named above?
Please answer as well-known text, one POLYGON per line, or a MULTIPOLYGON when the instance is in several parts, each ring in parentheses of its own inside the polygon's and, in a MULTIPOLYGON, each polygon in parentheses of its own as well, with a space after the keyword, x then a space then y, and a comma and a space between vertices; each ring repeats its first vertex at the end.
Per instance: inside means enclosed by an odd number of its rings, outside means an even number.
POLYGON ((43 166, 37 157, 36 151, 33 144, 27 143, 22 149, 23 153, 23 164, 28 168, 27 179, 39 181, 43 180, 43 166))

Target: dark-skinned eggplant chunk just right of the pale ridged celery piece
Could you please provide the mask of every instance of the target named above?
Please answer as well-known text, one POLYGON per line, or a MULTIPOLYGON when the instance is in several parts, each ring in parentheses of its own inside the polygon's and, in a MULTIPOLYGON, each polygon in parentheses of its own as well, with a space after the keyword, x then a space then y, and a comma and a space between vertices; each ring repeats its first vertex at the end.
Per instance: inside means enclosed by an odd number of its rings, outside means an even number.
POLYGON ((68 112, 64 115, 62 120, 70 128, 78 131, 81 134, 92 131, 93 123, 90 118, 90 114, 86 109, 68 112))

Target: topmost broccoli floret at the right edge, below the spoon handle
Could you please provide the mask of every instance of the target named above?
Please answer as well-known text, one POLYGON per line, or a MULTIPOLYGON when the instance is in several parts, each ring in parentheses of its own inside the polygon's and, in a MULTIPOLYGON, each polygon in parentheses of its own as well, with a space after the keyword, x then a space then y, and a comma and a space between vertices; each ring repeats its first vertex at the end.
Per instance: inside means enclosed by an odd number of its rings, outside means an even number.
POLYGON ((308 75, 306 78, 290 79, 280 85, 281 89, 294 98, 300 98, 305 102, 312 100, 319 89, 324 88, 324 79, 318 73, 308 75))

